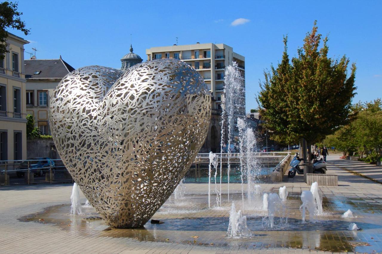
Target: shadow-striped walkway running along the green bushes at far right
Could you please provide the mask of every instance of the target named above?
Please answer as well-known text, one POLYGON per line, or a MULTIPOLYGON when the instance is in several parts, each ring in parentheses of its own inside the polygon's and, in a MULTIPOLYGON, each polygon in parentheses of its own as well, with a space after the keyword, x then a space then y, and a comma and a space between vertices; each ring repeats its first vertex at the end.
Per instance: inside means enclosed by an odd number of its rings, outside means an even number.
POLYGON ((354 174, 359 174, 382 184, 382 167, 377 167, 374 164, 365 163, 363 161, 340 159, 340 155, 329 155, 328 162, 340 169, 351 171, 354 174))

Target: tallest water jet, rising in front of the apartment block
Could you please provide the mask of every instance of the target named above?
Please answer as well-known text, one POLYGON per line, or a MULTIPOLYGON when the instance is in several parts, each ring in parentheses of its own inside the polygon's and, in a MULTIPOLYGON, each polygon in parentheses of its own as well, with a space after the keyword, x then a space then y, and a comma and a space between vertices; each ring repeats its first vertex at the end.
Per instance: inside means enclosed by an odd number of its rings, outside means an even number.
POLYGON ((244 82, 241 76, 240 70, 236 62, 233 62, 231 66, 227 66, 224 72, 224 98, 222 100, 223 112, 222 112, 222 139, 220 142, 220 205, 221 205, 221 182, 222 182, 222 149, 224 143, 224 131, 225 121, 223 120, 227 114, 227 129, 228 129, 228 146, 227 146, 227 178, 228 178, 228 200, 230 200, 230 154, 231 154, 231 144, 233 144, 233 130, 235 127, 235 117, 234 115, 243 111, 244 107, 244 82))

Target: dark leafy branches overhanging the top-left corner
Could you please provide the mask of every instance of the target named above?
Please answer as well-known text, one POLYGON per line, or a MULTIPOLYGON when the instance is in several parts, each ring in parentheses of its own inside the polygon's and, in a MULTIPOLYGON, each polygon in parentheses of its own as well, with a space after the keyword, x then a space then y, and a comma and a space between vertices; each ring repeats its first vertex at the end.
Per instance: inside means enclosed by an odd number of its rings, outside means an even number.
POLYGON ((4 1, 0 3, 0 59, 4 59, 6 49, 7 28, 20 30, 28 35, 30 30, 25 28, 25 23, 20 19, 22 12, 17 11, 18 3, 4 1))

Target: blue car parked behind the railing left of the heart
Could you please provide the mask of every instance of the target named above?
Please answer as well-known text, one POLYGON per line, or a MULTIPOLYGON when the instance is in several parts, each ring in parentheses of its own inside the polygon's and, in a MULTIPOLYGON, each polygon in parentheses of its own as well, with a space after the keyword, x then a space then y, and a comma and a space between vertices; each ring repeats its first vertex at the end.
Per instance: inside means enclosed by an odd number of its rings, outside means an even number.
POLYGON ((33 173, 35 176, 43 176, 46 172, 55 168, 54 161, 50 158, 30 158, 26 161, 21 162, 20 166, 17 168, 16 175, 17 177, 23 177, 26 172, 28 172, 28 162, 29 162, 29 172, 33 173))

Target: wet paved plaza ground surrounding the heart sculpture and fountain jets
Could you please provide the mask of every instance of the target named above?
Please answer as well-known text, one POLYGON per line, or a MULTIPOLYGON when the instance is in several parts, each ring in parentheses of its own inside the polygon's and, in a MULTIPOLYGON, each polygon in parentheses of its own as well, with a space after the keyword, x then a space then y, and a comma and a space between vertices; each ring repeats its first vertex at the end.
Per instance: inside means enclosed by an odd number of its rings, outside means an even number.
MULTIPOLYGON (((338 174, 338 186, 319 187, 324 215, 317 223, 301 223, 299 195, 310 186, 298 175, 284 178, 288 181, 284 183, 261 184, 263 191, 275 193, 286 186, 288 224, 277 225, 275 219, 274 229, 264 228, 265 211, 251 217, 251 211, 244 209, 253 236, 241 239, 227 238, 228 209, 208 209, 205 183, 186 183, 185 199, 167 201, 152 217, 165 223, 110 231, 92 230, 102 220, 83 219, 96 215, 92 208, 83 208, 84 215, 69 215, 72 185, 3 186, 0 253, 382 252, 382 185, 343 169, 346 161, 338 157, 328 157, 328 170, 338 174), (354 217, 342 218, 348 209, 354 217), (352 222, 361 230, 347 230, 352 222)), ((374 175, 380 174, 381 170, 377 171, 374 175)), ((227 192, 227 185, 222 190, 227 192)), ((230 191, 234 193, 231 201, 236 200, 236 206, 240 206, 241 185, 231 184, 230 191)), ((212 204, 214 199, 212 195, 212 204)), ((82 194, 81 201, 86 201, 82 194)), ((230 202, 223 194, 222 205, 229 207, 230 202)))

